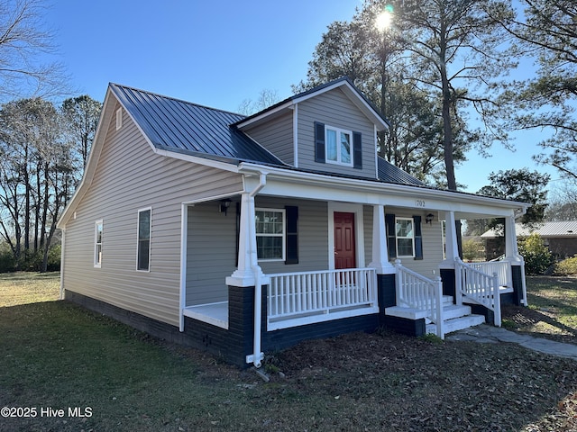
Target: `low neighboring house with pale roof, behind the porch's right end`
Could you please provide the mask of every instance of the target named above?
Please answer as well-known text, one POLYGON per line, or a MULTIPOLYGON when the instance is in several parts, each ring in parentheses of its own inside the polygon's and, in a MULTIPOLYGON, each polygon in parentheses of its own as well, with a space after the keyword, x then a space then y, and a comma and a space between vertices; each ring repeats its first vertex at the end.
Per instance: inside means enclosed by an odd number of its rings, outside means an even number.
MULTIPOLYGON (((577 254, 577 220, 543 222, 536 227, 517 223, 515 231, 517 238, 538 234, 555 257, 567 258, 577 254)), ((481 238, 485 241, 487 257, 499 257, 504 253, 502 237, 495 229, 488 230, 481 238)))

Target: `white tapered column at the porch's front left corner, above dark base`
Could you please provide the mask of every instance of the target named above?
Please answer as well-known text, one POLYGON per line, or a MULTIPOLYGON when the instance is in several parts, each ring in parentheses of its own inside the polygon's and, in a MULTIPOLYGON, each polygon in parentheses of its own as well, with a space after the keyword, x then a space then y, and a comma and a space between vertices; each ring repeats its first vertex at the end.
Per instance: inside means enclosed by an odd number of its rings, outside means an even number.
POLYGON ((256 226, 254 197, 243 193, 241 197, 241 221, 238 242, 238 267, 233 275, 226 278, 226 284, 232 286, 254 286, 256 275, 260 275, 261 284, 266 284, 258 264, 256 252, 256 226))

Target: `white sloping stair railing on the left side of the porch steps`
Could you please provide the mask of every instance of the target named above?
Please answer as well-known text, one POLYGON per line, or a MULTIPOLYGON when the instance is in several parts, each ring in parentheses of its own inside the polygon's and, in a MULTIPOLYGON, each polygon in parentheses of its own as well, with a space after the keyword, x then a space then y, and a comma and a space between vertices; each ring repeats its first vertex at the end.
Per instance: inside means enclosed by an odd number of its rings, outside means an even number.
POLYGON ((426 311, 426 318, 435 323, 436 336, 444 338, 443 329, 443 283, 441 277, 435 281, 395 262, 397 268, 396 293, 397 306, 426 311))

